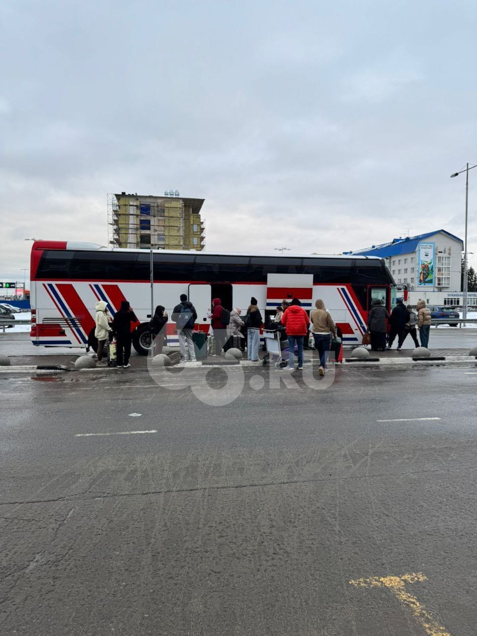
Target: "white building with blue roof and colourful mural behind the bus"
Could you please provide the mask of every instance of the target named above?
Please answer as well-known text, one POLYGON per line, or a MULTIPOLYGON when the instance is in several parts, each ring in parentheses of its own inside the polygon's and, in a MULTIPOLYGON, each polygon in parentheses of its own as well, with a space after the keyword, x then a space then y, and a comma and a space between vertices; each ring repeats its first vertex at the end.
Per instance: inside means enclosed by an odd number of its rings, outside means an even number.
POLYGON ((411 305, 424 298, 428 305, 457 307, 462 305, 460 263, 463 249, 462 239, 446 230, 435 230, 343 254, 384 258, 396 283, 408 287, 411 305))

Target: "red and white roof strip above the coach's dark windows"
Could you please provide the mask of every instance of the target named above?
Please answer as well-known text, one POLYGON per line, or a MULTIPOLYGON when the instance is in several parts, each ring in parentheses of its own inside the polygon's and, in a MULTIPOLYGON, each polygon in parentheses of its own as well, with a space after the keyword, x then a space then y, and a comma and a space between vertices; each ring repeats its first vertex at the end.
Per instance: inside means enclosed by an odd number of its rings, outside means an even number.
MULTIPOLYGON (((102 251, 102 252, 138 252, 146 254, 150 251, 148 249, 130 249, 126 247, 106 247, 106 245, 99 245, 97 243, 79 242, 79 241, 47 241, 37 240, 32 245, 32 250, 36 249, 67 249, 75 251, 102 251)), ((333 258, 340 260, 362 260, 362 261, 382 261, 379 256, 359 256, 357 254, 273 254, 271 252, 219 252, 219 251, 199 251, 197 249, 180 250, 180 249, 154 249, 155 254, 188 254, 202 256, 263 256, 266 258, 333 258)))

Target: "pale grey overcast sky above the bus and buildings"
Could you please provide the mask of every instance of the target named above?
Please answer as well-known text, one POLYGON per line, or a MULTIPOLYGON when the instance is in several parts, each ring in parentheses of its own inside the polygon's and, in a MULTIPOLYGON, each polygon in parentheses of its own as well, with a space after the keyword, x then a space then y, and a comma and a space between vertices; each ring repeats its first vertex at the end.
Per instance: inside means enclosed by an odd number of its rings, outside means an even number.
POLYGON ((476 18, 473 0, 3 0, 0 280, 23 279, 25 238, 106 245, 122 190, 205 198, 207 249, 463 237, 476 18))

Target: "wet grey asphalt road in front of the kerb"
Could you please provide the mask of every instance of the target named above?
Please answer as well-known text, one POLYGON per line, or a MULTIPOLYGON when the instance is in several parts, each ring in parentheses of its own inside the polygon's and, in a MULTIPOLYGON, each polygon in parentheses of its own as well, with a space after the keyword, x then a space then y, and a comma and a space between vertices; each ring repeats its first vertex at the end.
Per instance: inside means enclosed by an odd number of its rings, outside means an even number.
POLYGON ((477 368, 225 373, 0 377, 0 633, 474 636, 477 368))

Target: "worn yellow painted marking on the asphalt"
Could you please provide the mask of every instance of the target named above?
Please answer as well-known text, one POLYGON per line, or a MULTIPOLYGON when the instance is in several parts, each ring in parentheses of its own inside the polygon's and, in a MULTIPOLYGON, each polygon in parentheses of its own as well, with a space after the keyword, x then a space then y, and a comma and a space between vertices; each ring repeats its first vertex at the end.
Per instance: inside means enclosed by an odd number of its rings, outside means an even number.
POLYGON ((388 588, 392 591, 397 600, 406 605, 413 616, 425 630, 428 636, 450 636, 450 633, 443 625, 432 617, 425 607, 412 594, 406 591, 406 583, 422 583, 427 581, 427 576, 422 572, 413 572, 411 574, 403 574, 403 576, 373 576, 368 579, 357 579, 350 581, 351 585, 356 588, 388 588))

